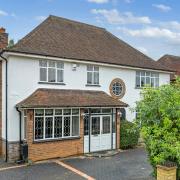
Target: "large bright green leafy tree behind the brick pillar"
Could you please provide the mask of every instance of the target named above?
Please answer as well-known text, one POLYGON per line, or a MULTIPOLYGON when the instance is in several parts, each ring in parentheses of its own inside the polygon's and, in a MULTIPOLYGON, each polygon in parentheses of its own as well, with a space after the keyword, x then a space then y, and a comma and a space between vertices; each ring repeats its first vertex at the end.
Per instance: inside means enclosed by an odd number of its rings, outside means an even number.
MULTIPOLYGON (((151 165, 176 162, 180 168, 180 79, 158 89, 144 88, 137 102, 140 116, 136 119, 151 165)), ((178 175, 180 176, 180 174, 178 175)), ((180 177, 179 177, 180 178, 180 177)))

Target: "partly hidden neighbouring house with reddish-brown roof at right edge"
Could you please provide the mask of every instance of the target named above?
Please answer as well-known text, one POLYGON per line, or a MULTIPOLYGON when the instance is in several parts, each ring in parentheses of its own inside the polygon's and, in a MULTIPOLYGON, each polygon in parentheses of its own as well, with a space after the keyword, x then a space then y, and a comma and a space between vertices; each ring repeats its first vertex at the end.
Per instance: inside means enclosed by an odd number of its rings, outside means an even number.
POLYGON ((158 62, 163 66, 174 70, 174 73, 171 74, 171 81, 174 81, 176 79, 176 76, 180 76, 180 56, 166 54, 161 57, 158 62))

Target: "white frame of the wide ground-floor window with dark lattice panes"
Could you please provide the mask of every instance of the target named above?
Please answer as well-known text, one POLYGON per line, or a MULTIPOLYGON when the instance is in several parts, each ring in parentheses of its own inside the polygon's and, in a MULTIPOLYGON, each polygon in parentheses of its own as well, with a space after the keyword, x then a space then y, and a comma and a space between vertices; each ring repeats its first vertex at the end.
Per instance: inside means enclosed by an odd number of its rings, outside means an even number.
POLYGON ((42 141, 42 140, 58 140, 58 139, 69 139, 69 138, 76 138, 80 136, 80 109, 79 108, 36 108, 34 109, 34 141, 42 141), (35 115, 35 111, 41 109, 44 111, 44 115, 43 116, 36 116, 35 115), (45 115, 45 110, 46 109, 53 109, 53 115, 45 115), (62 115, 55 115, 55 110, 56 109, 61 109, 62 110, 62 115), (70 109, 71 110, 71 114, 69 115, 64 115, 64 109, 70 109), (72 110, 73 109, 78 109, 79 113, 73 115, 72 114, 72 110), (78 135, 72 136, 72 117, 73 116, 78 116, 79 117, 79 127, 78 127, 78 135), (42 139, 36 139, 35 138, 35 121, 36 121, 36 117, 43 117, 43 138, 42 139), (45 132, 46 132, 46 117, 53 117, 53 129, 52 129, 52 138, 46 138, 45 137, 45 132), (62 136, 61 137, 54 137, 54 119, 55 117, 62 117, 62 136), (64 136, 64 117, 70 117, 70 136, 64 136))

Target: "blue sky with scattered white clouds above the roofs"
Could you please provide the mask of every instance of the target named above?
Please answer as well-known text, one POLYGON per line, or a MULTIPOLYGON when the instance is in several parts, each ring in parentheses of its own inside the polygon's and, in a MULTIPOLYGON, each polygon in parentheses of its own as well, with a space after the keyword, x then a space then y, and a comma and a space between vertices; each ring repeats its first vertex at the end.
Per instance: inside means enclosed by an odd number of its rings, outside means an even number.
POLYGON ((106 28, 158 59, 180 55, 179 0, 0 0, 0 26, 15 42, 48 15, 106 28))

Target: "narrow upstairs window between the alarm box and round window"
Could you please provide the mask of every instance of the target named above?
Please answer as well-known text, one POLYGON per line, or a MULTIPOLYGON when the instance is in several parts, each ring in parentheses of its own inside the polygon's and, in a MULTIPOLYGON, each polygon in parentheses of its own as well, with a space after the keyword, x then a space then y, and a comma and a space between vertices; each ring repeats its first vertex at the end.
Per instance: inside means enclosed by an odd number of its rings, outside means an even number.
POLYGON ((87 66, 87 84, 98 85, 99 84, 99 67, 88 65, 87 66))

